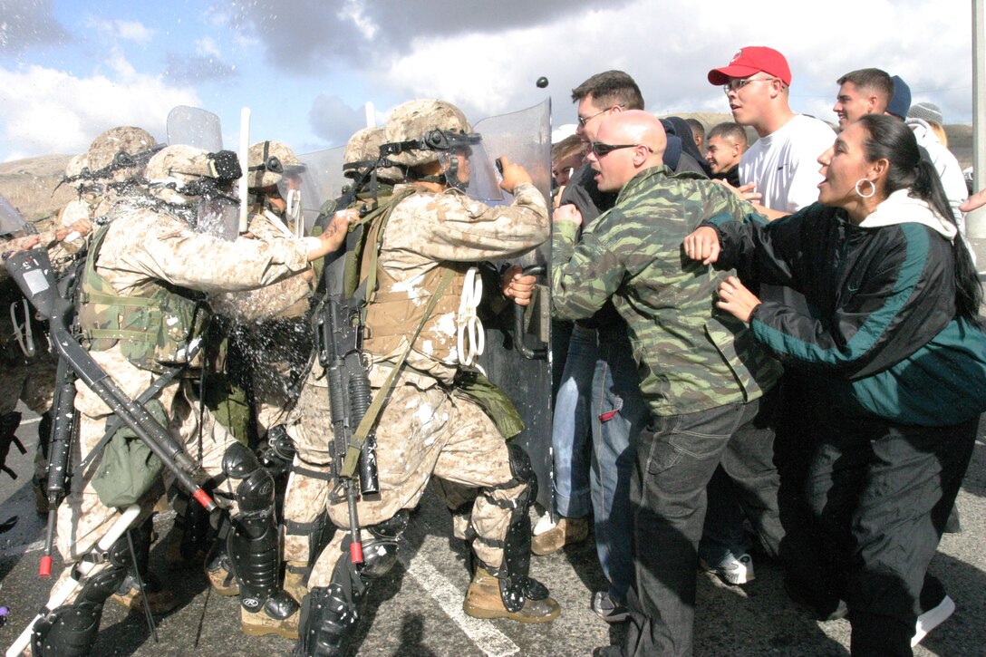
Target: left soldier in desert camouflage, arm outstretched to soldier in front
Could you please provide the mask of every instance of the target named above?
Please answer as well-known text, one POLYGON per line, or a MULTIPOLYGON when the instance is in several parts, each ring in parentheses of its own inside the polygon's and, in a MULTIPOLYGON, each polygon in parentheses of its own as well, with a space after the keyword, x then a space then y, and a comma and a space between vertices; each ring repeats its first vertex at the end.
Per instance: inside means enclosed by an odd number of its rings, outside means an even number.
MULTIPOLYGON (((279 591, 270 476, 207 408, 199 407, 195 396, 195 362, 187 361, 201 339, 207 315, 195 291, 248 289, 302 271, 309 259, 338 247, 344 228, 333 223, 322 239, 275 245, 256 240, 227 242, 197 232, 193 226, 209 208, 232 200, 228 193, 240 176, 240 167, 229 152, 210 154, 172 146, 151 159, 146 176, 148 194, 121 198, 107 216, 108 225, 94 239, 80 299, 83 344, 131 398, 147 390, 163 366, 185 362, 190 378, 178 377, 165 385, 148 402, 148 410, 159 409, 160 419, 178 444, 211 477, 216 501, 231 511, 234 531, 229 548, 244 566, 238 568, 238 579, 245 632, 291 636, 297 604, 279 591)), ((84 457, 100 441, 111 411, 81 381, 77 389, 78 456, 84 457)), ((118 518, 118 510, 106 506, 93 486, 94 474, 113 475, 104 472, 108 467, 104 456, 106 452, 59 507, 58 548, 66 563, 59 581, 70 576, 72 564, 118 518)), ((141 498, 144 513, 136 526, 150 513, 159 494, 152 488, 141 498)), ((103 602, 122 581, 129 564, 123 545, 109 549, 105 570, 35 623, 35 655, 92 651, 103 602)))

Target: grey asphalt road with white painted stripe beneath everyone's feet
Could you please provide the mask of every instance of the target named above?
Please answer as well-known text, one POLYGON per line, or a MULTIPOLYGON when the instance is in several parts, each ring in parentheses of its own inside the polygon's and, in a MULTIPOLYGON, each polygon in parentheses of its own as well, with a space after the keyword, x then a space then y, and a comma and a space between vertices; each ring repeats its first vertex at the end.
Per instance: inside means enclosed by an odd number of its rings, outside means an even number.
MULTIPOLYGON (((915 654, 986 655, 986 424, 958 497, 962 532, 947 535, 932 562, 958 608, 932 632, 915 654)), ((0 535, 0 605, 11 613, 0 628, 0 645, 9 646, 47 597, 50 580, 37 578, 43 519, 34 511, 30 457, 36 445, 36 422, 18 431, 29 455, 12 449, 8 464, 21 474, 0 474, 0 522, 17 517, 16 526, 0 535)), ((155 526, 163 538, 174 514, 161 514, 155 526)), ((548 585, 562 615, 547 625, 509 620, 474 620, 462 614, 468 586, 464 551, 451 538, 451 521, 436 498, 426 495, 412 516, 400 562, 386 580, 371 589, 358 653, 393 656, 591 655, 595 647, 623 636, 622 625, 610 626, 589 608, 592 593, 603 585, 593 543, 562 553, 534 557, 532 573, 548 585)), ((197 570, 169 570, 164 545, 152 551, 152 567, 180 600, 175 612, 158 622, 155 643, 143 614, 112 602, 100 632, 100 655, 287 655, 293 642, 278 637, 246 637, 240 632, 238 602, 210 592, 197 570)), ((56 559, 57 566, 57 559, 56 559)), ((794 606, 781 586, 779 568, 756 559, 757 578, 743 586, 722 584, 696 573, 698 607, 695 655, 828 656, 848 654, 849 624, 817 622, 794 606)))

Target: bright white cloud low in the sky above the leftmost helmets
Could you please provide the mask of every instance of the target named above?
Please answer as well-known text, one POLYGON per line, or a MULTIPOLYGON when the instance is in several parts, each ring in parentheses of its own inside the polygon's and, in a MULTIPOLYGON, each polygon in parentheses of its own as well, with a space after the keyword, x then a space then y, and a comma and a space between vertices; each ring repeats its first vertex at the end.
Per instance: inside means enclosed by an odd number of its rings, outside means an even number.
POLYGON ((81 153, 115 125, 138 125, 164 140, 168 111, 176 105, 198 105, 198 98, 190 89, 128 72, 122 62, 113 77, 78 78, 36 65, 0 68, 0 133, 8 161, 81 153))

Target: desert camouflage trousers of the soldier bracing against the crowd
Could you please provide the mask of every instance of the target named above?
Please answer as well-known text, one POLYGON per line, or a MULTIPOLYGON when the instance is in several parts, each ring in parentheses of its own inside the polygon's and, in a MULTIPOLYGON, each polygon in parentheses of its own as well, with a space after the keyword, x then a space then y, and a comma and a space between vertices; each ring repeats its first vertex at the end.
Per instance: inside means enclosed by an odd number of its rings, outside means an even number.
MULTIPOLYGON (((414 508, 431 480, 449 509, 458 512, 456 536, 475 539, 472 549, 482 563, 502 565, 511 514, 528 484, 514 479, 503 437, 474 401, 440 386, 421 390, 398 380, 377 425, 377 463, 381 492, 360 499, 361 527, 414 508)), ((337 527, 349 527, 345 499, 330 499, 328 515, 337 527)), ((336 532, 318 555, 309 588, 328 584, 346 536, 336 532)))

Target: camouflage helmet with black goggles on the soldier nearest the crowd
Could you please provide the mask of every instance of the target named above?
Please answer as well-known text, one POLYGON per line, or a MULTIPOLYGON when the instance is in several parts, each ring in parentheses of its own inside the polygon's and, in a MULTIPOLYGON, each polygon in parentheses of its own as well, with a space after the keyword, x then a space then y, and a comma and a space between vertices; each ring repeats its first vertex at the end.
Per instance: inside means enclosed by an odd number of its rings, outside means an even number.
POLYGON ((451 103, 408 101, 397 106, 387 119, 384 128, 387 159, 405 167, 436 162, 440 151, 471 143, 467 138, 471 132, 465 114, 451 103), (413 141, 418 144, 411 144, 413 141))

